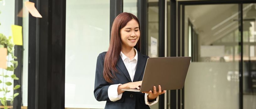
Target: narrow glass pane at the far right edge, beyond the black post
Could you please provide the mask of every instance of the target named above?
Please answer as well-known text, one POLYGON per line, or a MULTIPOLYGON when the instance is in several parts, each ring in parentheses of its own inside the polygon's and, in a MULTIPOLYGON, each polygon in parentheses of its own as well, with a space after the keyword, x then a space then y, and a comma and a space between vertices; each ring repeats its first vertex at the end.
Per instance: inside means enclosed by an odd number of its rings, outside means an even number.
POLYGON ((256 4, 243 4, 243 109, 256 108, 256 4))

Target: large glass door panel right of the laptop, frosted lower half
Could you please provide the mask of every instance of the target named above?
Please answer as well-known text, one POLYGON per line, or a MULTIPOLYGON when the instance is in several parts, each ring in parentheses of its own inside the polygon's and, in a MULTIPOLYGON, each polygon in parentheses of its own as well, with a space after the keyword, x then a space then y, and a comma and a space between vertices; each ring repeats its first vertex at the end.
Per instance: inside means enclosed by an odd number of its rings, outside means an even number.
POLYGON ((239 108, 238 4, 185 6, 185 109, 239 108))

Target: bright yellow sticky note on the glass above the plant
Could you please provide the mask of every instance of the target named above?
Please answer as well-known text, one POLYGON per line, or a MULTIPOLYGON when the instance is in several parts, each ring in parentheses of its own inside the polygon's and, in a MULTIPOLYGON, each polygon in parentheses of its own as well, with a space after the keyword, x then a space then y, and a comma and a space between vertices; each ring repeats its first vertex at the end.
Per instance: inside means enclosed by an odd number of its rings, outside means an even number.
POLYGON ((13 43, 15 45, 23 45, 22 43, 22 26, 12 25, 13 43))

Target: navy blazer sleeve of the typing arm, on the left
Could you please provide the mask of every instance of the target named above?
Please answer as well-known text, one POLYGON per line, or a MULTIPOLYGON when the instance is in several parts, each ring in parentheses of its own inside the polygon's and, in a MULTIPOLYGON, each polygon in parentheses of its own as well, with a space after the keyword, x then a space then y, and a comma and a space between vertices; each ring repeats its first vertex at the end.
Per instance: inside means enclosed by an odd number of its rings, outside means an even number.
POLYGON ((97 101, 110 101, 108 97, 109 83, 103 77, 104 59, 102 54, 99 54, 96 64, 95 82, 94 82, 94 97, 97 101))

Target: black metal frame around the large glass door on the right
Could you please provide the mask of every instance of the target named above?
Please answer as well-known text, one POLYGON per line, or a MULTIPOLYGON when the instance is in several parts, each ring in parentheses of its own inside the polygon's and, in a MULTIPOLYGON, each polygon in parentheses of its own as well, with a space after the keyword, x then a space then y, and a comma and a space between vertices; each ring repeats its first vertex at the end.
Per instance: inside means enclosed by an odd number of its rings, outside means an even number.
MULTIPOLYGON (((184 22, 184 7, 186 5, 206 5, 206 4, 239 4, 239 30, 241 43, 241 60, 239 61, 239 109, 243 109, 243 4, 244 3, 256 3, 255 0, 202 0, 202 1, 179 1, 178 2, 178 43, 180 42, 180 13, 182 13, 182 22, 184 22), (180 12, 180 7, 182 7, 182 12, 180 12)), ((182 23, 183 25, 184 23, 182 23)), ((184 55, 184 26, 182 26, 182 48, 179 47, 178 51, 182 49, 182 55, 184 55)), ((184 88, 183 88, 184 90, 184 88)), ((184 96, 182 96, 184 97, 184 96)), ((183 98, 184 99, 184 98, 183 98)), ((184 100, 182 102, 184 105, 184 100)))

